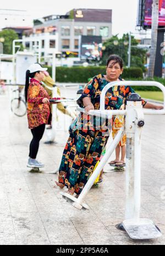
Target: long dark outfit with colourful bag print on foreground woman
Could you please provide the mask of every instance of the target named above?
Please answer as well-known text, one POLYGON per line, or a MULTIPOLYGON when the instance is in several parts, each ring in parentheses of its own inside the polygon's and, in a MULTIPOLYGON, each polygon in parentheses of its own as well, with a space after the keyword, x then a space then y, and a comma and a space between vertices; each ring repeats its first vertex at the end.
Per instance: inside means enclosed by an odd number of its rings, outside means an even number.
MULTIPOLYGON (((78 105, 84 107, 83 98, 89 97, 95 109, 100 109, 100 95, 109 82, 103 75, 95 76, 84 88, 78 105)), ((130 86, 109 88, 105 97, 106 109, 119 109, 134 90, 130 86)), ((65 145, 59 167, 59 183, 75 189, 80 194, 108 141, 112 120, 80 113, 69 128, 69 139, 65 145)))

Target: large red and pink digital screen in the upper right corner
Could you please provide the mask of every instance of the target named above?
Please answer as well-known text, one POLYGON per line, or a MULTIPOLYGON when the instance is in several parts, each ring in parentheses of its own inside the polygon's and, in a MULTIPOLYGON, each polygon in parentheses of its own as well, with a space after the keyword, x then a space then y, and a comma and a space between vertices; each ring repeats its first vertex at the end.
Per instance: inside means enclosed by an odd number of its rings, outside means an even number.
MULTIPOLYGON (((145 0, 144 26, 151 27, 152 24, 152 3, 153 0, 145 0)), ((165 0, 159 0, 159 27, 165 27, 165 0)))

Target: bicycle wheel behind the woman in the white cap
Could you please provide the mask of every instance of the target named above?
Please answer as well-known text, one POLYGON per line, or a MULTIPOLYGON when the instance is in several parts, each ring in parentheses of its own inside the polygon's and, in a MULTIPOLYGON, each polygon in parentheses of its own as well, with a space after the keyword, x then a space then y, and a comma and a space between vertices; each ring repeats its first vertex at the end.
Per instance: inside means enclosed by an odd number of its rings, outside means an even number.
POLYGON ((21 98, 13 98, 11 110, 15 116, 23 117, 26 114, 26 103, 21 98))

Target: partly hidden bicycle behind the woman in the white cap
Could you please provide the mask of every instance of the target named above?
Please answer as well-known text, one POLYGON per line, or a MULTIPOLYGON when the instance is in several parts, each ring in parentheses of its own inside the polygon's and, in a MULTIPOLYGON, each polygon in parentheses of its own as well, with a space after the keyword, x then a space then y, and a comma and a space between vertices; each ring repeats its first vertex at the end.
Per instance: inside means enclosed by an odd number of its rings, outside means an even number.
POLYGON ((15 97, 11 101, 11 110, 15 114, 15 116, 23 117, 26 114, 26 102, 24 100, 24 96, 21 94, 22 88, 14 90, 13 92, 18 91, 18 97, 15 97))

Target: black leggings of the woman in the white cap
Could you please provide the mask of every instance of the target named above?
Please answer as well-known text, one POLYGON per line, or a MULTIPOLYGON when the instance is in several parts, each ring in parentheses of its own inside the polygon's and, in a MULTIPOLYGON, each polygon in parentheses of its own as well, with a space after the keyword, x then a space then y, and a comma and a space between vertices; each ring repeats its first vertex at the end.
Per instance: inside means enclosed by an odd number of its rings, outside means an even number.
POLYGON ((36 159, 40 140, 42 139, 44 131, 45 131, 45 123, 41 124, 41 126, 31 129, 33 138, 30 143, 30 153, 29 153, 30 158, 36 159))

